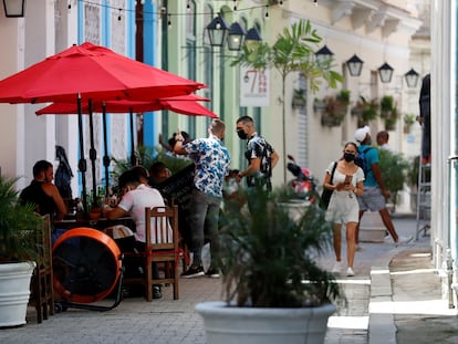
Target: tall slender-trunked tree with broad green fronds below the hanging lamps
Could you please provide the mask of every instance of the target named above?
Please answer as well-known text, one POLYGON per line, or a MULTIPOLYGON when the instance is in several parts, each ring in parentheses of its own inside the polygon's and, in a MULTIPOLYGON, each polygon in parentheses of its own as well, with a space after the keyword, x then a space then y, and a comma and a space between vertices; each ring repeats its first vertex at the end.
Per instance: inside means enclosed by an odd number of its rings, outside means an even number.
MULTIPOLYGON (((287 108, 285 108, 285 85, 287 76, 291 73, 302 73, 309 82, 309 88, 316 92, 322 81, 325 81, 332 88, 343 82, 343 76, 333 71, 333 59, 320 62, 314 59, 318 43, 322 38, 312 28, 309 20, 300 20, 283 32, 270 45, 267 42, 244 44, 242 51, 233 59, 231 66, 242 65, 254 70, 266 71, 274 69, 281 76, 282 122, 283 122, 283 149, 287 148, 287 108)), ((283 176, 287 184, 287 154, 283 152, 283 176)))

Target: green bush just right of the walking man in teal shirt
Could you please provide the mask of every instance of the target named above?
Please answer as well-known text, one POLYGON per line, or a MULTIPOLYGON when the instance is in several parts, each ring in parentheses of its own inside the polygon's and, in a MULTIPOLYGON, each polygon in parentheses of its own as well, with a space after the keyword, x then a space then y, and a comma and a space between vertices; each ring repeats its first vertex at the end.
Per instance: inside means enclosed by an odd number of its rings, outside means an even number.
POLYGON ((379 149, 378 157, 383 183, 392 194, 392 200, 396 208, 397 195, 408 180, 410 164, 402 154, 387 149, 379 149))

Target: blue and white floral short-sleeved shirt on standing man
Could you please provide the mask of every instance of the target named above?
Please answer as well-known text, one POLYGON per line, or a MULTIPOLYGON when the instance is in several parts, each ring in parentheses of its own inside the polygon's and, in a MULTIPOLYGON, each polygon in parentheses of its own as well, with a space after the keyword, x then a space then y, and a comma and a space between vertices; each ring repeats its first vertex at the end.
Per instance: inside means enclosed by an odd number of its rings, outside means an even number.
POLYGON ((210 135, 197 138, 183 146, 187 154, 195 155, 196 174, 194 185, 200 191, 222 197, 225 176, 229 174, 230 155, 222 142, 210 135))

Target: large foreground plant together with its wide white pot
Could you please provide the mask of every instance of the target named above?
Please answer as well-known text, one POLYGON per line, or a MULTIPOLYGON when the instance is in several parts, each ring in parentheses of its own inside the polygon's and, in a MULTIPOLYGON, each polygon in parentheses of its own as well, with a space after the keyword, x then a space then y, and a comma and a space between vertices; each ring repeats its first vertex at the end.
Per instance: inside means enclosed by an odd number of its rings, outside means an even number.
POLYGON ((331 246, 332 225, 318 206, 290 207, 287 191, 246 197, 249 213, 228 210, 220 231, 226 300, 196 305, 207 343, 323 343, 333 302, 344 300, 315 261, 331 246))

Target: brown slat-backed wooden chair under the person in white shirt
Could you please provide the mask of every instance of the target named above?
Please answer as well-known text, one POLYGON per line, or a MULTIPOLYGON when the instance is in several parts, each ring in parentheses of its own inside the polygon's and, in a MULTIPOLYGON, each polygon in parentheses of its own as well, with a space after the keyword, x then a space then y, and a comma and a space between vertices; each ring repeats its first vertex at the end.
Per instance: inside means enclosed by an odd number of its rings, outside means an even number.
POLYGON ((138 261, 144 270, 144 275, 138 278, 125 277, 123 283, 143 284, 145 298, 153 301, 153 285, 171 284, 174 300, 179 298, 179 233, 178 233, 178 207, 166 206, 145 208, 145 251, 125 252, 125 260, 138 261), (153 277, 153 262, 158 264, 159 278, 153 277))

